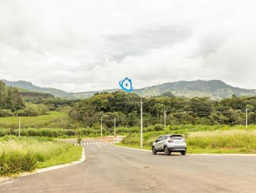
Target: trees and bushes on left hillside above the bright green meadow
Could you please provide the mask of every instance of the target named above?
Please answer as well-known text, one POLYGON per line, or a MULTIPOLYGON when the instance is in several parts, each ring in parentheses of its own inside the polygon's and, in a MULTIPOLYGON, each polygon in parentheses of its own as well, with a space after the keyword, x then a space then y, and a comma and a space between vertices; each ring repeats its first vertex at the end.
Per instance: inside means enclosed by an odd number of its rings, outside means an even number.
POLYGON ((38 93, 6 86, 0 81, 0 117, 40 116, 50 111, 69 111, 79 100, 55 98, 49 93, 38 93))

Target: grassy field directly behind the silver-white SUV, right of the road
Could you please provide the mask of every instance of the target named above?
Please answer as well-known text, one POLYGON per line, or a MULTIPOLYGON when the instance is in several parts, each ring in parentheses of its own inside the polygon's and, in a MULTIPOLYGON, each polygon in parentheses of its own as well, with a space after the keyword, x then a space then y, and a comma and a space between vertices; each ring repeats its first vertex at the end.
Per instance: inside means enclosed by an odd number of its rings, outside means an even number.
MULTIPOLYGON (((160 135, 170 134, 170 130, 143 134, 143 146, 151 150, 151 144, 160 135)), ((179 132, 177 132, 179 134, 179 132)), ((229 128, 228 130, 207 130, 180 132, 188 145, 188 153, 256 153, 256 130, 229 128)), ((118 144, 140 148, 140 134, 127 135, 118 144)))

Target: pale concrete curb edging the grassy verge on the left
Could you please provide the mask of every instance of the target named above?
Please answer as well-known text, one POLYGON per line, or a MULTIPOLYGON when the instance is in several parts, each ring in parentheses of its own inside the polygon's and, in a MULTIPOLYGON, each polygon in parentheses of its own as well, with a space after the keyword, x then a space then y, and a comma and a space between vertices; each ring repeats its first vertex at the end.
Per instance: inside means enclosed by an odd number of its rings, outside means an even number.
MULTIPOLYGON (((60 168, 63 168, 63 167, 74 166, 76 164, 80 164, 80 163, 84 162, 85 159, 86 159, 86 157, 85 157, 84 147, 83 147, 81 158, 78 161, 74 161, 74 162, 71 162, 71 163, 68 163, 68 164, 61 164, 61 165, 57 165, 57 166, 45 167, 45 168, 42 168, 42 169, 36 169, 35 171, 33 171, 31 173, 30 172, 22 173, 19 177, 30 176, 30 175, 33 175, 33 174, 44 173, 46 171, 52 171, 52 170, 60 169, 60 168)), ((12 179, 13 178, 3 177, 3 178, 0 178, 0 182, 6 181, 6 180, 12 180, 12 179)))

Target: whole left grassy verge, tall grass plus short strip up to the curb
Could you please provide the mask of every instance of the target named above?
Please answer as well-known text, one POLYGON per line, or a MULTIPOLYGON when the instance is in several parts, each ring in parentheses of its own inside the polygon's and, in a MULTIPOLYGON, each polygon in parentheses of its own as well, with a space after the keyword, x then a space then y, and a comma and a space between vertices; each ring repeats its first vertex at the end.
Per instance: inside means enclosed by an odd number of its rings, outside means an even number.
POLYGON ((0 138, 0 176, 65 164, 81 158, 82 146, 45 137, 0 138))

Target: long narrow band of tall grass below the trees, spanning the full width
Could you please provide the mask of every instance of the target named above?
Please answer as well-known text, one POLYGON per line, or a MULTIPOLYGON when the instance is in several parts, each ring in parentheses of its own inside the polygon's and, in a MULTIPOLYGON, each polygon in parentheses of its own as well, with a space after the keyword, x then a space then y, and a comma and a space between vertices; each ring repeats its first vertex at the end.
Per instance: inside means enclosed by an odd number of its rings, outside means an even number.
MULTIPOLYGON (((148 135, 153 135, 156 132, 156 137, 159 134, 182 134, 185 137, 190 132, 198 131, 216 131, 216 130, 246 130, 244 125, 228 126, 228 125, 168 125, 166 129, 163 129, 163 125, 156 124, 150 127, 144 127, 143 132, 148 135)), ((248 130, 255 130, 256 125, 249 125, 248 130)), ((113 135, 113 128, 103 128, 102 133, 104 135, 113 135)), ((83 136, 99 136, 100 128, 21 128, 20 134, 22 136, 39 136, 39 137, 71 137, 76 134, 83 136)), ((116 134, 140 134, 140 127, 116 127, 116 134)), ((17 128, 0 128, 0 137, 4 135, 19 135, 17 128)), ((147 135, 145 135, 147 136, 147 135)))

